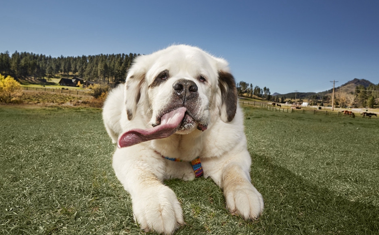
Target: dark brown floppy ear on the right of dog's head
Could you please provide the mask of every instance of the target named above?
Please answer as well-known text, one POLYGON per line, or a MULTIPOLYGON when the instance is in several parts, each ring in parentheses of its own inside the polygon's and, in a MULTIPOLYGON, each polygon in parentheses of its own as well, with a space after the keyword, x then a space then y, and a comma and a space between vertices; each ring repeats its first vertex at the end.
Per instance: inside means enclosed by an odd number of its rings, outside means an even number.
POLYGON ((231 122, 236 115, 238 94, 236 81, 231 73, 219 71, 219 86, 221 91, 220 116, 223 122, 231 122))

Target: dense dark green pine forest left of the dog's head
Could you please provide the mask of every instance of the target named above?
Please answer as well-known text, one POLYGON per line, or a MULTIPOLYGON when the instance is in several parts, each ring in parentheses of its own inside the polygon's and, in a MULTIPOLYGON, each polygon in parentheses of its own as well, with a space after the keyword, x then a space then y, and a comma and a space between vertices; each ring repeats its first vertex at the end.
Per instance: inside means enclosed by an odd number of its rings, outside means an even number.
MULTIPOLYGON (((138 54, 139 55, 139 54, 138 54)), ((14 78, 75 75, 89 81, 121 82, 137 54, 100 54, 54 58, 29 52, 0 53, 0 74, 14 78)))

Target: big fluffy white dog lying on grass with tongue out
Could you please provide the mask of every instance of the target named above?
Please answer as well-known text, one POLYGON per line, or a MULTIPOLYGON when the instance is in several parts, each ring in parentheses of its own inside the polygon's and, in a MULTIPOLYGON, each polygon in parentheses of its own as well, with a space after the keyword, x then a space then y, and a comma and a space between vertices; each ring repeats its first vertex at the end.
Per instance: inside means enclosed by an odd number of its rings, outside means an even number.
POLYGON ((126 83, 108 95, 103 120, 119 145, 113 168, 145 232, 172 234, 184 224, 174 192, 162 183, 170 178, 211 177, 230 213, 244 219, 262 213, 236 84, 224 59, 186 45, 138 56, 126 83))

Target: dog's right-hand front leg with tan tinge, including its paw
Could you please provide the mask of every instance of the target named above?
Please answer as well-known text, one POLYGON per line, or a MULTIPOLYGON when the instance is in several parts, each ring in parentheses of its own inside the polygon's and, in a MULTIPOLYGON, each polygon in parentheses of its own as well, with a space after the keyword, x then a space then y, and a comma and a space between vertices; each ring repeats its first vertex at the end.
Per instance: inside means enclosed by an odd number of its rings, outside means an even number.
POLYGON ((244 219, 257 219, 262 214, 263 198, 251 184, 251 158, 247 150, 201 160, 205 176, 223 188, 226 207, 231 214, 244 219))

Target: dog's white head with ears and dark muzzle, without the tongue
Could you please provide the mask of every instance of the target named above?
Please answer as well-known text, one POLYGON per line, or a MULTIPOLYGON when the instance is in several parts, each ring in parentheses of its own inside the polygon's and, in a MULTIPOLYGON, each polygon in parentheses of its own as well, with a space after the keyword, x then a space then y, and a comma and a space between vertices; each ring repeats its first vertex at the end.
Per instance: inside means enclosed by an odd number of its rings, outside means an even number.
POLYGON ((197 47, 176 45, 137 57, 125 89, 129 120, 141 106, 155 126, 164 114, 185 107, 179 134, 206 129, 212 115, 231 122, 237 110, 236 83, 227 62, 197 47))

